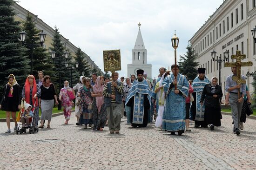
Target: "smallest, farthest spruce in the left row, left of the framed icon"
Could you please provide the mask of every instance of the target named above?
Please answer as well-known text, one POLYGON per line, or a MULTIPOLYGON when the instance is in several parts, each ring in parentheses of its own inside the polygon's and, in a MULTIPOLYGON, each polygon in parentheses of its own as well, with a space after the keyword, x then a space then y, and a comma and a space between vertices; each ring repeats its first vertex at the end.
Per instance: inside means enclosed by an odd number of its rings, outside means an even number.
POLYGON ((90 77, 90 68, 89 62, 86 60, 84 53, 81 51, 81 48, 78 47, 77 52, 75 52, 76 57, 74 57, 75 61, 79 63, 77 71, 79 75, 82 75, 84 72, 85 77, 90 77))

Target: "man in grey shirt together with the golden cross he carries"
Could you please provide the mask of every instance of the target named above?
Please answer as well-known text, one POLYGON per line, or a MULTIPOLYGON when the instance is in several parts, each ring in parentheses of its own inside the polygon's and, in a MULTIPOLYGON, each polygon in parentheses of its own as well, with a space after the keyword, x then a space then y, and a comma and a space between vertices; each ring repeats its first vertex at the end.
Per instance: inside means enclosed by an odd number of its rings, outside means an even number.
POLYGON ((231 55, 231 59, 236 59, 236 63, 225 63, 225 67, 231 67, 232 74, 226 79, 225 90, 230 93, 229 103, 232 111, 232 119, 234 121, 233 132, 240 135, 240 117, 243 107, 243 97, 246 95, 245 76, 241 75, 242 66, 252 66, 252 62, 241 62, 246 56, 236 51, 235 55, 231 55))

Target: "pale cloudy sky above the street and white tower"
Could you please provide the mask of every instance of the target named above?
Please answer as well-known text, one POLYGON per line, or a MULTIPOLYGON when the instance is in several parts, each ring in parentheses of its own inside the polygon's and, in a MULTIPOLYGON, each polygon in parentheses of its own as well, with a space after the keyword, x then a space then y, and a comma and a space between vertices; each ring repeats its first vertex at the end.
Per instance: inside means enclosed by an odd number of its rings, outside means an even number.
POLYGON ((79 46, 103 71, 103 50, 121 50, 120 77, 127 76, 132 49, 141 23, 152 78, 160 67, 174 64, 171 38, 180 38, 177 61, 186 53, 189 39, 223 0, 19 0, 47 25, 79 46))

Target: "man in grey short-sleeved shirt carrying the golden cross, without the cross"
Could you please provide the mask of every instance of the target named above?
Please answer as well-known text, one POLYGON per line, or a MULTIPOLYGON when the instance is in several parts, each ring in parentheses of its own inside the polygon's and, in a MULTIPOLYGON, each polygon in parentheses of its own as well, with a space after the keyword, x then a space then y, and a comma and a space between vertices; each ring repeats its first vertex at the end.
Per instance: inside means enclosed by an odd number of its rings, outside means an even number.
MULTIPOLYGON (((246 95, 246 85, 237 85, 236 81, 232 79, 233 76, 236 76, 236 67, 231 67, 232 74, 229 75, 226 79, 226 92, 229 92, 229 103, 232 112, 232 119, 234 121, 234 133, 236 135, 240 135, 239 122, 243 107, 243 97, 246 95), (240 89, 240 98, 238 98, 238 89, 240 89)), ((243 75, 241 75, 242 79, 245 79, 243 75)))

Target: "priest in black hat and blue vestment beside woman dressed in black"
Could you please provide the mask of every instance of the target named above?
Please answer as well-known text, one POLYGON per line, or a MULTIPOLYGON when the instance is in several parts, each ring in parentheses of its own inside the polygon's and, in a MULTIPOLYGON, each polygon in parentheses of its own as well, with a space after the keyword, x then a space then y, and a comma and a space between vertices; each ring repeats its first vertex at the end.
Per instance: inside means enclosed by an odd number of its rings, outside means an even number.
POLYGON ((203 88, 210 83, 204 73, 205 68, 198 68, 198 76, 192 83, 192 88, 194 90, 193 97, 195 100, 192 102, 191 111, 193 113, 193 120, 195 120, 195 128, 198 128, 199 126, 207 128, 207 123, 204 121, 205 105, 200 104, 203 88))

